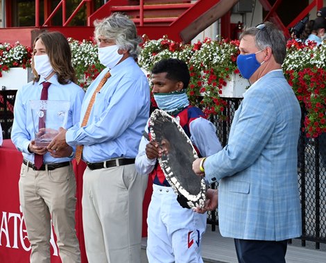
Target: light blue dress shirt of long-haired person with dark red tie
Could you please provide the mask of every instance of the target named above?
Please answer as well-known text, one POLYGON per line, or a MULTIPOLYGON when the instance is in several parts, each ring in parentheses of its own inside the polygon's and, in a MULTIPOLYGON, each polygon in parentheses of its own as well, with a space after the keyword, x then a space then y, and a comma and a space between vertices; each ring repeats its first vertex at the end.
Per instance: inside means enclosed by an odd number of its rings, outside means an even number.
MULTIPOLYGON (((14 123, 12 125, 11 139, 19 151, 22 151, 24 159, 34 163, 34 153, 28 151, 28 144, 35 138, 33 128, 33 117, 31 111, 31 101, 40 100, 42 83, 44 78, 40 78, 38 83, 30 82, 18 90, 14 108, 14 123)), ((80 108, 83 103, 85 92, 75 83, 61 85, 57 76, 52 76, 48 82, 51 83, 48 90, 48 100, 69 101, 69 117, 67 127, 74 126, 80 117, 80 108)), ((50 153, 44 155, 44 163, 67 162, 72 158, 53 158, 50 153)))

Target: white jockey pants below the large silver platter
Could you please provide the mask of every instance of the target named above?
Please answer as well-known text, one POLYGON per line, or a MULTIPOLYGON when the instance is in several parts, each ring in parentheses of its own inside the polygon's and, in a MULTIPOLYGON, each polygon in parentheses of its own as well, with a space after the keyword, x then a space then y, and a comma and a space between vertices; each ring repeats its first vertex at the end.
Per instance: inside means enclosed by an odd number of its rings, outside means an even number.
POLYGON ((149 263, 201 263, 201 240, 207 214, 182 208, 171 187, 153 185, 148 207, 149 263))

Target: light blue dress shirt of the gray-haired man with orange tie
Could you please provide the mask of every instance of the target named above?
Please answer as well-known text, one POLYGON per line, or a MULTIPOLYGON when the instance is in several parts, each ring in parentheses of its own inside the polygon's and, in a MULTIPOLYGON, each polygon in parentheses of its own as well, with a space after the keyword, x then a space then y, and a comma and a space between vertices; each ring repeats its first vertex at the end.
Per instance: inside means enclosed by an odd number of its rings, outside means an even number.
MULTIPOLYGON (((88 87, 80 114, 83 121, 89 101, 103 76, 88 87)), ((141 135, 149 117, 148 80, 133 58, 127 58, 110 70, 111 77, 96 94, 88 123, 70 128, 66 141, 71 146, 83 144, 83 160, 103 162, 112 158, 135 158, 141 135)))

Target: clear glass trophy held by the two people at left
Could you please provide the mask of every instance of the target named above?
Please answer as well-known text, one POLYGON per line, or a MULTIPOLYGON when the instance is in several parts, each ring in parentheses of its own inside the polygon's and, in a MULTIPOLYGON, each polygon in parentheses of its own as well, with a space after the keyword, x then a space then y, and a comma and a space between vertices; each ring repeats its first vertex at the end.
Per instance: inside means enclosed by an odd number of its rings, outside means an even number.
POLYGON ((67 128, 69 108, 69 101, 31 101, 35 146, 48 146, 60 127, 67 128))

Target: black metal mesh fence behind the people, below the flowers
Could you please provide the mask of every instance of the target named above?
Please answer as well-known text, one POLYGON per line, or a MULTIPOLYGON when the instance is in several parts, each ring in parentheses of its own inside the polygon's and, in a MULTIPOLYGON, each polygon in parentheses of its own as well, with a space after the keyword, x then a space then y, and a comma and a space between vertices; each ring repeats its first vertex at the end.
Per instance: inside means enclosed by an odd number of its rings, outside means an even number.
MULTIPOLYGON (((0 91, 0 122, 3 129, 3 138, 10 138, 13 121, 13 105, 15 90, 0 91)), ((212 117, 211 121, 217 128, 218 137, 223 146, 228 142, 228 134, 235 110, 241 99, 225 99, 223 118, 212 117)), ((302 110, 302 120, 304 110, 302 110)), ((303 124, 303 121, 302 121, 303 124)), ((300 134, 298 145, 298 182, 302 205, 302 246, 305 241, 326 244, 326 134, 316 139, 307 139, 304 133, 300 134)), ((218 185, 212 185, 217 187, 218 185)), ((207 223, 212 224, 215 230, 218 225, 217 213, 209 212, 207 223)))

